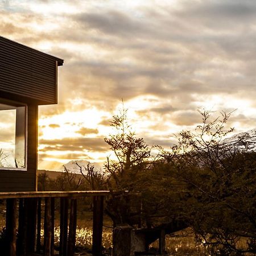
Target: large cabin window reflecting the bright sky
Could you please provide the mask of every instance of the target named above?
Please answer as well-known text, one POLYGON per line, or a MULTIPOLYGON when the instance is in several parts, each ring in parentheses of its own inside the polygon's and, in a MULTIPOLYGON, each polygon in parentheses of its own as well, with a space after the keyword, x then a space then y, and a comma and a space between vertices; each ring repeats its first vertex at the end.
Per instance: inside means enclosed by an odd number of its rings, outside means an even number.
POLYGON ((0 99, 0 169, 26 170, 26 109, 0 99))

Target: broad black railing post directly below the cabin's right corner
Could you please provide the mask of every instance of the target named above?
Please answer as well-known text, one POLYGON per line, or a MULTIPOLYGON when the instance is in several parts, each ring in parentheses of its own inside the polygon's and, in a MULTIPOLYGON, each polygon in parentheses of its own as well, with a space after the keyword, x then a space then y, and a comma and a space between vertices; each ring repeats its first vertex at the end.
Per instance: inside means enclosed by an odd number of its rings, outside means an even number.
POLYGON ((27 200, 27 254, 35 253, 36 240, 36 213, 38 200, 36 198, 28 198, 27 200))

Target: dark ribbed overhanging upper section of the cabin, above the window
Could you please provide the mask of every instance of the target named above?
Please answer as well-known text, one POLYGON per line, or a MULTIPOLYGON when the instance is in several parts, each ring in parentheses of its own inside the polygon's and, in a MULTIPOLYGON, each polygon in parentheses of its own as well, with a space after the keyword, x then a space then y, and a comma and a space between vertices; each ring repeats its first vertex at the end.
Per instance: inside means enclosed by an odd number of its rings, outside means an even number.
POLYGON ((1 91, 38 100, 41 104, 57 103, 57 68, 63 60, 23 46, 0 36, 1 91))

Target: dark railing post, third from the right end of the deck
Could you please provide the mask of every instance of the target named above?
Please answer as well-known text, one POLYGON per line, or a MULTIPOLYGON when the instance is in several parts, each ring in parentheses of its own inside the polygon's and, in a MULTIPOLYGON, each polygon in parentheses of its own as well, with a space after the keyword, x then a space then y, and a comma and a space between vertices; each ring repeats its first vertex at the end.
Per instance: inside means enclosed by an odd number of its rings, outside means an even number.
POLYGON ((67 256, 68 241, 68 198, 60 199, 60 256, 67 256))

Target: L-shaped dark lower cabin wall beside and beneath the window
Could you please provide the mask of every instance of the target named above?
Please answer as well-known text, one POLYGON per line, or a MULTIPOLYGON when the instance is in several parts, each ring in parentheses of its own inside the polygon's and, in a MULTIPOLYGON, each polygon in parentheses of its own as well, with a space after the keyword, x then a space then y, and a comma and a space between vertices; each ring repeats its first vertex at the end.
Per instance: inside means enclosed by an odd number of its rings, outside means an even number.
POLYGON ((27 171, 0 170, 0 192, 36 191, 38 106, 27 106, 27 171))

